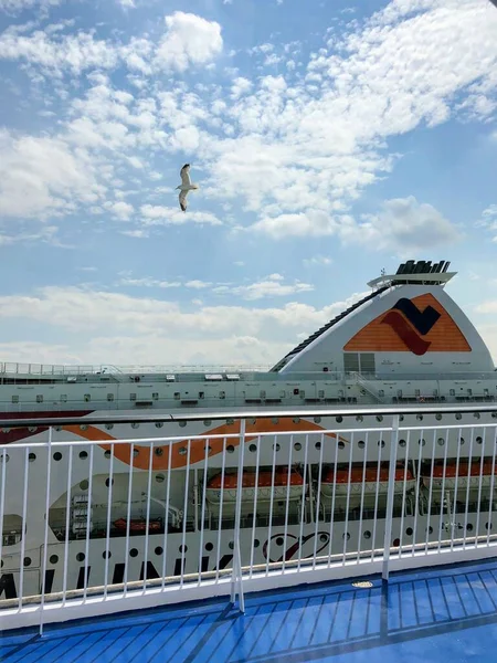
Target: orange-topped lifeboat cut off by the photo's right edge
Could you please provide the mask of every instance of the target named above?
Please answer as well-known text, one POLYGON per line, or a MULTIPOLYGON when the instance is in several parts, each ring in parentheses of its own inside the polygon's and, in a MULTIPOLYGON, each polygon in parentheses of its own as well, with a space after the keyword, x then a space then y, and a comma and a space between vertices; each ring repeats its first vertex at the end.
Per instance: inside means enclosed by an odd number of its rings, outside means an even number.
MULTIPOLYGON (((469 459, 459 459, 459 465, 457 467, 457 461, 455 459, 447 460, 444 472, 444 461, 435 461, 433 465, 433 472, 431 465, 425 465, 421 472, 423 484, 433 491, 467 488, 477 488, 491 486, 491 475, 497 474, 497 465, 493 465, 491 459, 484 459, 482 466, 482 459, 474 459, 469 463, 469 459)), ((494 485, 497 488, 497 480, 494 480, 494 485)))

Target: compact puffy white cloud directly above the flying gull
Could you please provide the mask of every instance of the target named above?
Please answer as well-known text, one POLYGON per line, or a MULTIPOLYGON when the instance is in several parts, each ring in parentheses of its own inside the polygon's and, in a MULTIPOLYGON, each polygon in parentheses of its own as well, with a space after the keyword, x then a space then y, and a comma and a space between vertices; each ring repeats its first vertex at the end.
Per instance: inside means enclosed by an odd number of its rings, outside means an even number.
POLYGON ((167 32, 158 45, 155 64, 183 72, 189 65, 214 60, 223 48, 221 25, 192 13, 166 17, 167 32))

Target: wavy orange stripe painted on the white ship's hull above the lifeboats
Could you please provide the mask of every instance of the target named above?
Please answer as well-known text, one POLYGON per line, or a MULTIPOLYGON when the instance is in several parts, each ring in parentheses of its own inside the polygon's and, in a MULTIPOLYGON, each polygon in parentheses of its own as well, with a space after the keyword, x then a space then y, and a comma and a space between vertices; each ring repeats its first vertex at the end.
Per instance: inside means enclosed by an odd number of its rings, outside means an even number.
MULTIPOLYGON (((85 438, 92 442, 99 442, 107 440, 108 442, 115 442, 116 438, 113 438, 108 433, 101 431, 94 425, 88 425, 86 430, 82 430, 78 425, 65 425, 64 430, 78 435, 80 438, 85 438)), ((269 419, 261 419, 256 420, 255 423, 246 423, 246 436, 245 442, 250 442, 257 438, 257 433, 299 433, 305 431, 311 431, 320 433, 325 429, 316 423, 311 423, 309 421, 299 421, 295 423, 293 419, 284 418, 279 419, 277 423, 271 421, 269 419)), ((229 435, 229 434, 239 434, 240 433, 240 421, 236 421, 233 424, 223 424, 218 428, 214 428, 207 433, 200 433, 202 435, 229 435)), ((336 438, 335 433, 325 433, 328 438, 336 438)), ((209 457, 222 453, 223 451, 223 438, 210 439, 209 446, 211 451, 209 452, 209 457)), ((342 442, 348 442, 348 440, 340 438, 342 442)), ((180 440, 179 442, 173 442, 172 452, 171 452, 171 469, 176 470, 179 467, 186 467, 188 463, 188 454, 180 453, 180 450, 184 449, 184 445, 188 444, 188 438, 184 440, 180 440)), ((240 444, 240 440, 236 438, 229 438, 226 440, 226 446, 232 444, 233 446, 237 446, 240 444)), ((112 450, 112 444, 99 444, 99 446, 104 450, 112 450)), ((160 449, 160 446, 154 446, 154 450, 160 449)), ((169 470, 169 446, 163 446, 162 455, 157 455, 154 453, 152 457, 152 470, 169 470)), ((138 454, 133 460, 133 466, 139 470, 148 470, 150 464, 150 446, 135 444, 135 450, 138 450, 138 454)), ((123 463, 127 465, 130 464, 131 456, 131 445, 130 444, 115 444, 114 445, 114 457, 118 459, 123 463)), ((205 448, 204 440, 192 440, 190 442, 190 464, 198 463, 205 457, 205 448)))

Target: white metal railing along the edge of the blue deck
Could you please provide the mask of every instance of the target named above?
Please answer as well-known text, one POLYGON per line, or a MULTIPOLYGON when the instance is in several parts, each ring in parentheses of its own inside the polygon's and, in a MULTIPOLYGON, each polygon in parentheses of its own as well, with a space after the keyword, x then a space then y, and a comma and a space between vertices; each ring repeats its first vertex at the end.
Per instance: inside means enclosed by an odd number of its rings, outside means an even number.
POLYGON ((497 407, 461 412, 140 417, 127 439, 78 420, 2 444, 0 629, 497 555, 497 407))

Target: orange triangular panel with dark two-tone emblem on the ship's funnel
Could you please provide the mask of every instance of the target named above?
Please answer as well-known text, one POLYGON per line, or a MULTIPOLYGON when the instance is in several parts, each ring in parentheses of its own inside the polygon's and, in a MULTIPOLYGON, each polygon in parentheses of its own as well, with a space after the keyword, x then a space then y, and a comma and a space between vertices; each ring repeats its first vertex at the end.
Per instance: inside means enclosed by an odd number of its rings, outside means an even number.
POLYGON ((403 297, 362 327, 343 350, 412 352, 419 357, 425 352, 470 352, 456 319, 432 293, 403 297))

